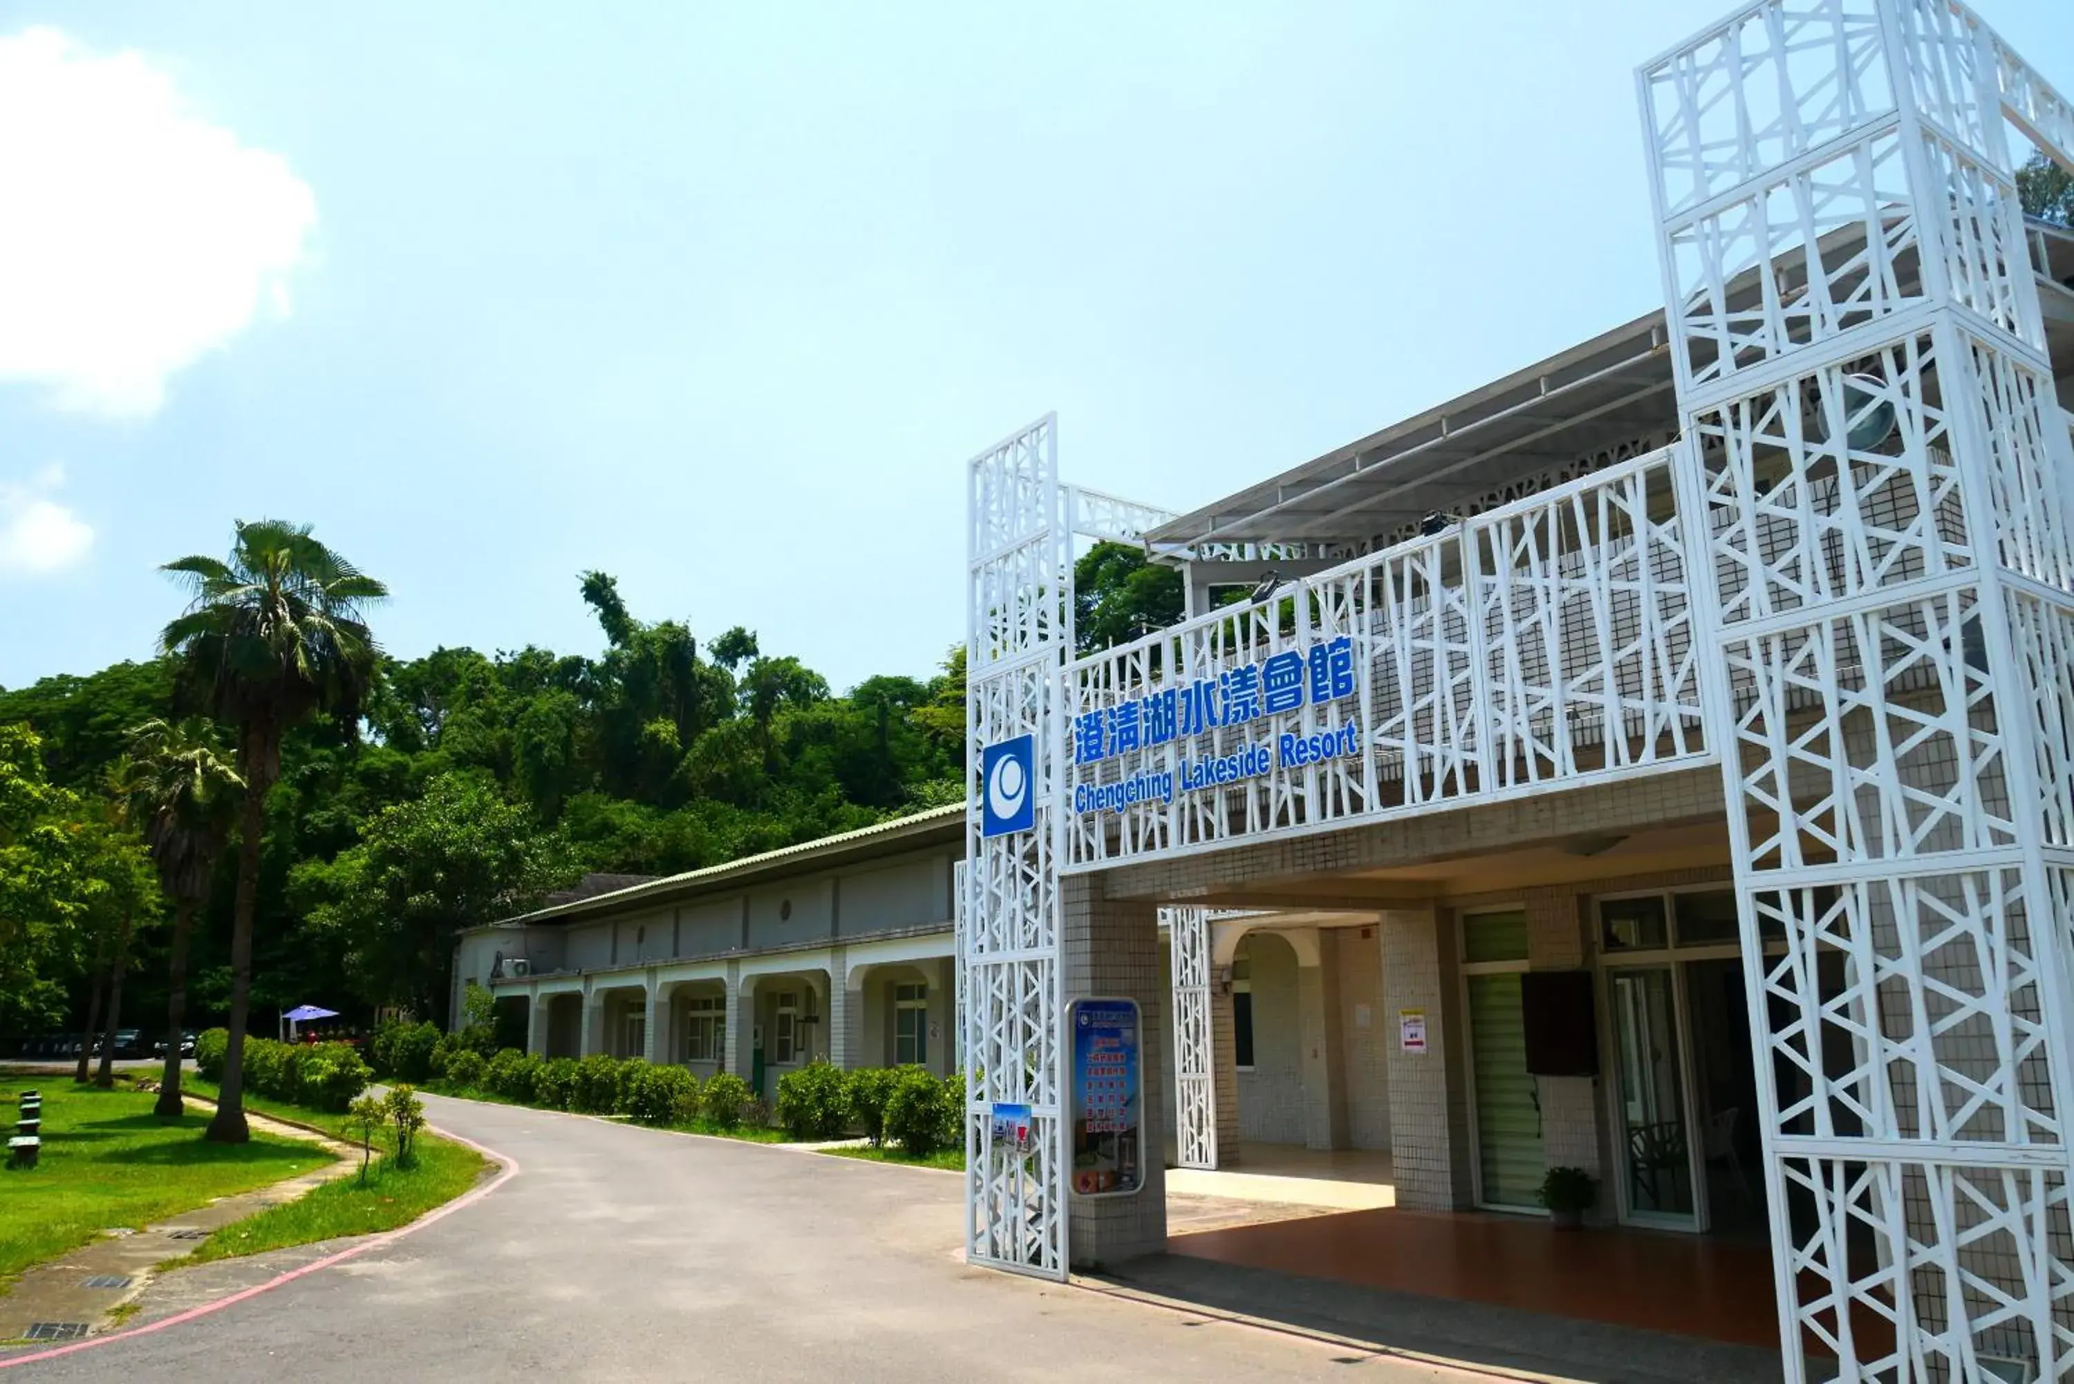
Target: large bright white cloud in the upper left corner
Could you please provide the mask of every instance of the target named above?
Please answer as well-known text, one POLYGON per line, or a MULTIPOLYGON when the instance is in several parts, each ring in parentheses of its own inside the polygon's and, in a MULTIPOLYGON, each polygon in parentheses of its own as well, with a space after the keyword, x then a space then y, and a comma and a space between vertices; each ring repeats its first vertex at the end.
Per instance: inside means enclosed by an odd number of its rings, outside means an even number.
POLYGON ((166 378, 284 313, 317 203, 141 54, 0 37, 0 380, 147 415, 166 378))

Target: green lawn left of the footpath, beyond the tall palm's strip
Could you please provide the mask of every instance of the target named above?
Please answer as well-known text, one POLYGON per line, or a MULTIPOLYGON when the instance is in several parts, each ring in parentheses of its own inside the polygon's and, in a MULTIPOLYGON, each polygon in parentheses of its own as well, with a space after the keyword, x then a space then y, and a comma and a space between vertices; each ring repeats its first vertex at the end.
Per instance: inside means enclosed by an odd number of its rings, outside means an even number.
POLYGON ((158 1096, 124 1085, 81 1087, 71 1077, 0 1079, 0 1118, 8 1127, 21 1089, 44 1094, 44 1158, 33 1170, 0 1168, 0 1282, 104 1228, 168 1220, 332 1160, 309 1143, 272 1135, 205 1143, 207 1114, 160 1123, 151 1114, 158 1096))

